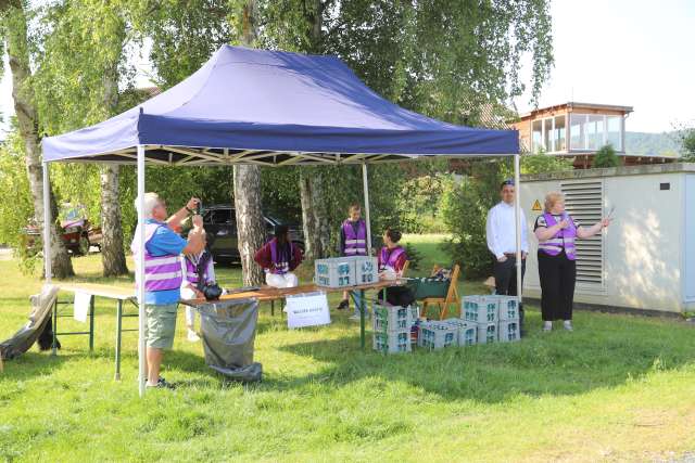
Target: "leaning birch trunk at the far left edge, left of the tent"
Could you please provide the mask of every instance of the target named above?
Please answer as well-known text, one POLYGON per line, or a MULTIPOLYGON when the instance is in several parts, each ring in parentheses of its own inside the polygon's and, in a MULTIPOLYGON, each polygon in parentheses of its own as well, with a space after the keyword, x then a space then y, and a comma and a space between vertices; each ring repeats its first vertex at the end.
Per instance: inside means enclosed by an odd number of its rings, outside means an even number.
MULTIPOLYGON (((31 89, 29 68, 29 52, 26 30, 26 15, 23 2, 12 0, 4 13, 10 21, 5 22, 5 39, 8 44, 8 56, 10 69, 12 72, 12 98, 14 100, 14 111, 17 118, 20 134, 24 140, 25 163, 34 201, 34 214, 41 230, 45 226, 51 227, 51 268, 53 275, 59 279, 73 276, 73 262, 70 259, 67 249, 60 237, 61 228, 56 221, 58 207, 53 192, 50 192, 50 202, 53 222, 43 223, 43 170, 41 168, 41 150, 38 136, 38 115, 34 103, 34 90, 31 89)), ((46 256, 43 258, 47 258, 46 256)))

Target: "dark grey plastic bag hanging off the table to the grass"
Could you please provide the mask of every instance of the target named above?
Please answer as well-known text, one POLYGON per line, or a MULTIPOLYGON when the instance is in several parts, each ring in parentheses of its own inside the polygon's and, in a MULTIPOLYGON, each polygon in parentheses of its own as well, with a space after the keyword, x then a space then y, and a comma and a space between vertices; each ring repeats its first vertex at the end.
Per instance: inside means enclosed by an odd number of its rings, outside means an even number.
POLYGON ((253 362, 258 301, 216 300, 197 308, 207 366, 230 380, 261 381, 261 363, 253 362))

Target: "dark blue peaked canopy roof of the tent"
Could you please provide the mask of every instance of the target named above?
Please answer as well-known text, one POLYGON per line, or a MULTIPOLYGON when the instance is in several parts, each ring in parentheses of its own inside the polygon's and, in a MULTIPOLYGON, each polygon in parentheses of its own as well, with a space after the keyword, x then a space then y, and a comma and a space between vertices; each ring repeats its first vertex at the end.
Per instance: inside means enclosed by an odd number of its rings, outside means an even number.
POLYGON ((91 127, 43 139, 48 162, 339 164, 419 155, 510 155, 515 130, 404 110, 333 56, 224 46, 169 90, 91 127))

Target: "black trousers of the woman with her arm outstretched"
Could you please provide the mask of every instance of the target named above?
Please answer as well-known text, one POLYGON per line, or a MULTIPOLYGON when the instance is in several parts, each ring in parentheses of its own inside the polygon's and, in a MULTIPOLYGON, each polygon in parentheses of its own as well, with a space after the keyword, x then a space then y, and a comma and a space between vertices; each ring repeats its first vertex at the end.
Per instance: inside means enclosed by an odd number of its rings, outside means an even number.
POLYGON ((568 259, 565 250, 557 256, 539 250, 539 278, 543 321, 571 320, 577 262, 568 259))

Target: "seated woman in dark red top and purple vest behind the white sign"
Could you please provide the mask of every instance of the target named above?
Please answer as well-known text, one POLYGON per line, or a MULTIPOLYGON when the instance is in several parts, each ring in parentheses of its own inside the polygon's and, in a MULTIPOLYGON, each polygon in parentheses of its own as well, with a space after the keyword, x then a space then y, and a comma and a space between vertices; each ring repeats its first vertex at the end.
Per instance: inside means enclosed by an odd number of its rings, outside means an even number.
POLYGON ((265 270, 265 282, 268 286, 299 285, 299 279, 292 270, 302 262, 302 250, 290 241, 287 226, 275 227, 275 237, 256 250, 254 260, 265 270))

